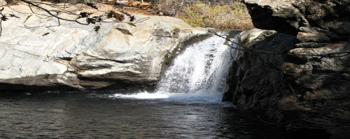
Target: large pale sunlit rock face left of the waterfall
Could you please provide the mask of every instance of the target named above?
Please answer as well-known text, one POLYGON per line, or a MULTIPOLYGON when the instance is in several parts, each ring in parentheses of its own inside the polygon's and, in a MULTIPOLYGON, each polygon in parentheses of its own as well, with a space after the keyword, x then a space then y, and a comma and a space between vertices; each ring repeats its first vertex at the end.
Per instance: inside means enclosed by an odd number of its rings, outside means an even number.
MULTIPOLYGON (((81 25, 44 17, 40 10, 33 14, 22 4, 11 8, 2 11, 16 17, 1 23, 0 90, 154 85, 164 59, 179 51, 181 42, 207 33, 172 17, 135 15, 143 22, 81 25)), ((84 5, 69 10, 103 14, 84 5)))

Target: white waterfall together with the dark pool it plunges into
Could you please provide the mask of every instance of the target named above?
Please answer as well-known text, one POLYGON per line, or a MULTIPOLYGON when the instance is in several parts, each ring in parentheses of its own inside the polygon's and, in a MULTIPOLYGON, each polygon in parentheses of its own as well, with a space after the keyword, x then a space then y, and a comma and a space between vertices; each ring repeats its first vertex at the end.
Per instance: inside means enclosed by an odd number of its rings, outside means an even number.
POLYGON ((181 51, 154 92, 0 93, 0 138, 282 139, 279 127, 221 102, 235 58, 225 43, 212 36, 181 51))

